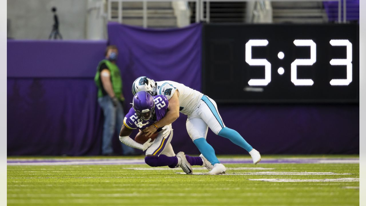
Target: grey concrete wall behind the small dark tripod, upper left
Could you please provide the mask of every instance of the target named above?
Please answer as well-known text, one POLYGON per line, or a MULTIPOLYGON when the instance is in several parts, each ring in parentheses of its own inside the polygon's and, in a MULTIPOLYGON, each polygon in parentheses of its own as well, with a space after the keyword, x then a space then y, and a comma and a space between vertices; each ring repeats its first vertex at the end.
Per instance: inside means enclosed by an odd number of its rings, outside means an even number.
POLYGON ((52 7, 57 8, 63 39, 85 39, 87 1, 11 0, 7 1, 10 21, 8 38, 48 39, 54 23, 52 7))

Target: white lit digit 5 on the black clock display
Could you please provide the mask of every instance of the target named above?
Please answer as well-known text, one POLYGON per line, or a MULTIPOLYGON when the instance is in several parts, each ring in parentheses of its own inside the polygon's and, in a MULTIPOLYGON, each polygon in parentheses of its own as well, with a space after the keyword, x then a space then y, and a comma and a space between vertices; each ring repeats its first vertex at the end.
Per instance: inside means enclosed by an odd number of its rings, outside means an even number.
POLYGON ((263 47, 268 45, 268 41, 265 39, 261 40, 249 40, 245 44, 245 61, 250 66, 264 66, 264 79, 250 79, 248 84, 250 86, 266 86, 271 82, 271 63, 267 59, 252 59, 251 48, 252 47, 263 47))

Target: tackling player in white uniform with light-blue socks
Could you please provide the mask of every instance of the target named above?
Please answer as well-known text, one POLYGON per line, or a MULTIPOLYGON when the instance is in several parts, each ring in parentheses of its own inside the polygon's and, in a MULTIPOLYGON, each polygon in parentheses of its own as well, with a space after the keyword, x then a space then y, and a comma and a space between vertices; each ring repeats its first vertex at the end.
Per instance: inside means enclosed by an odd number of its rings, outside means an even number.
MULTIPOLYGON (((179 112, 188 115, 186 121, 188 135, 203 157, 213 165, 209 174, 225 173, 226 168, 219 162, 213 147, 206 141, 208 128, 216 135, 225 137, 248 151, 254 164, 261 161, 261 155, 257 150, 253 149, 238 132, 225 126, 217 110, 216 102, 208 96, 178 82, 155 82, 147 77, 139 77, 132 84, 132 93, 135 95, 139 91, 149 92, 153 96, 164 95, 169 101, 169 111, 164 118, 155 123, 157 128, 174 122, 179 117, 179 112)), ((149 126, 143 131, 150 136, 156 132, 157 128, 149 126)))

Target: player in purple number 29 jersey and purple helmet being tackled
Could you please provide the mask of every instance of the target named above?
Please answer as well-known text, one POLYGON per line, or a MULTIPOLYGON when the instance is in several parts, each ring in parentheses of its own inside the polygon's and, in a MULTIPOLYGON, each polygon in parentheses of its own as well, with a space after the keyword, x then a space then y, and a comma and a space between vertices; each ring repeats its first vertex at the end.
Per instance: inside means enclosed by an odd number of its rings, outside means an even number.
POLYGON ((169 166, 169 168, 181 167, 187 174, 192 174, 191 165, 205 166, 208 170, 212 165, 202 157, 190 157, 184 152, 175 155, 170 144, 173 137, 171 124, 157 130, 158 136, 154 141, 151 138, 140 144, 130 138, 133 129, 140 130, 154 125, 162 119, 168 111, 168 99, 163 95, 151 96, 145 91, 137 92, 132 101, 132 108, 123 120, 120 132, 120 141, 127 146, 146 150, 145 162, 152 167, 169 166))

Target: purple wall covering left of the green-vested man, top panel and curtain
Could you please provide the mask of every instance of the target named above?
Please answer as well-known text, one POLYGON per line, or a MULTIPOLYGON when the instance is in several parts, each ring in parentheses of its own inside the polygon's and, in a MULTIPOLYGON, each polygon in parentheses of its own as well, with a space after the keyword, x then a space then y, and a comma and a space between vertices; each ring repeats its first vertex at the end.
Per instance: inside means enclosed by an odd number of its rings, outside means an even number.
POLYGON ((7 42, 8 155, 97 155, 93 78, 107 41, 7 42))

